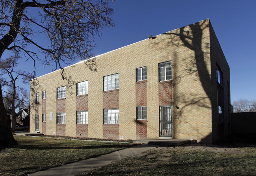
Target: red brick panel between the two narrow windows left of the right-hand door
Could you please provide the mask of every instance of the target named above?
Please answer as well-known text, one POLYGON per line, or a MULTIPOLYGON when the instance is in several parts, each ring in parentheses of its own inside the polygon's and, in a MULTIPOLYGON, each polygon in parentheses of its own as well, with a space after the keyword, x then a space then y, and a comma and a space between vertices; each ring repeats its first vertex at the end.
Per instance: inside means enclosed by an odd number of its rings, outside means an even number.
POLYGON ((136 82, 136 106, 147 106, 147 80, 136 82))

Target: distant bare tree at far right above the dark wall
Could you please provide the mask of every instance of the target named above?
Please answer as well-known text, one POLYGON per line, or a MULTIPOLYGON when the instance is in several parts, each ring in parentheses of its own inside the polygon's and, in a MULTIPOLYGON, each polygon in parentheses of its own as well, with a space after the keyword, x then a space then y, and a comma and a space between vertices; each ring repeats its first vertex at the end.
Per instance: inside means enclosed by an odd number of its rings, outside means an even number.
POLYGON ((233 102, 234 112, 256 112, 256 100, 247 100, 240 98, 233 102))

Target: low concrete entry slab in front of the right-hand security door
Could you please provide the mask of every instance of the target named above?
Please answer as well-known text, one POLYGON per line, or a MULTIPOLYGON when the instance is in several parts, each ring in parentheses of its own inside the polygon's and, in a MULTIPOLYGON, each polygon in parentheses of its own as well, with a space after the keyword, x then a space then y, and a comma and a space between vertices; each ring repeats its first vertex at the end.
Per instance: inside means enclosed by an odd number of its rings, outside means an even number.
POLYGON ((186 143, 189 143, 189 140, 186 139, 136 139, 132 140, 132 143, 142 143, 142 144, 154 144, 154 145, 171 145, 171 146, 180 146, 186 143))

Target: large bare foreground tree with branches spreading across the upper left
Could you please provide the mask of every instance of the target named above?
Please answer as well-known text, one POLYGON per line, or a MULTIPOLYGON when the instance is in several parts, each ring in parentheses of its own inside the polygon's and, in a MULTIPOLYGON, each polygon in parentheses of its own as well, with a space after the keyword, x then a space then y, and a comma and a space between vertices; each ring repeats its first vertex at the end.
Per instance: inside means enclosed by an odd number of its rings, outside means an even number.
MULTIPOLYGON (((74 59, 93 57, 93 39, 106 26, 114 26, 108 6, 111 0, 0 0, 0 58, 5 50, 19 48, 26 55, 38 59, 46 65, 54 64, 62 69, 62 63, 69 64, 74 59), (31 13, 37 14, 30 15, 31 13), (35 34, 48 39, 44 44, 35 41, 35 34), (36 46, 45 54, 45 59, 27 46, 36 46)), ((112 0, 113 1, 113 0, 112 0)), ((1 85, 0 85, 1 88, 1 85)), ((3 105, 2 92, 0 97, 3 105)), ((5 109, 0 111, 0 120, 7 119, 5 109)), ((9 136, 10 129, 0 123, 0 148, 15 143, 9 136)))

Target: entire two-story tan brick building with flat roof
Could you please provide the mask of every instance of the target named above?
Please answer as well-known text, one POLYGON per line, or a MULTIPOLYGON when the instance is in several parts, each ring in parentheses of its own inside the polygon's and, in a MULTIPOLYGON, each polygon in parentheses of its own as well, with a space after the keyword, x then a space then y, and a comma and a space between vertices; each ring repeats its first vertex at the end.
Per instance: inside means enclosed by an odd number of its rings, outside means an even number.
MULTIPOLYGON (((230 70, 210 20, 40 76, 30 132, 213 143, 230 133, 230 70), (92 70, 86 65, 96 63, 92 70)), ((33 86, 35 85, 35 86, 33 86)))

